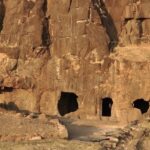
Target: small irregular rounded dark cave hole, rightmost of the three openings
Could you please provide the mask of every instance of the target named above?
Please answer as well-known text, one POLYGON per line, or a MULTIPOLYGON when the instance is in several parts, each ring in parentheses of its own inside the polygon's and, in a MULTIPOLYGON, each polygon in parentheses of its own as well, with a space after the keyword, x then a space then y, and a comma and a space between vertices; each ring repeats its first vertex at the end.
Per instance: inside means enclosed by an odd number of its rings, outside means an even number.
POLYGON ((141 113, 144 114, 149 109, 149 102, 144 99, 137 99, 133 102, 133 107, 141 110, 141 113))

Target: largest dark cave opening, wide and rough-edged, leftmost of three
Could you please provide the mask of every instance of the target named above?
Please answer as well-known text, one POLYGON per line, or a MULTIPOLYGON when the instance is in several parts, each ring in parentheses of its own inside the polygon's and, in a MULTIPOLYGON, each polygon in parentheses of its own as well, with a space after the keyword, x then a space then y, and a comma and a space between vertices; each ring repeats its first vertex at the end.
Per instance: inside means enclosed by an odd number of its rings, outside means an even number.
POLYGON ((61 116, 70 112, 75 112, 78 109, 78 96, 71 92, 61 92, 60 100, 58 101, 58 111, 61 116))

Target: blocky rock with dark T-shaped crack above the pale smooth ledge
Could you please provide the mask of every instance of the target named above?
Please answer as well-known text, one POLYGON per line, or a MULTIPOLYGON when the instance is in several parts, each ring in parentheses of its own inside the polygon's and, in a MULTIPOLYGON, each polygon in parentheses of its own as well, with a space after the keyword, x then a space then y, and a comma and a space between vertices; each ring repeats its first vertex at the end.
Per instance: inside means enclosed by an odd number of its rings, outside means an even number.
POLYGON ((124 10, 121 32, 125 44, 149 43, 149 2, 130 2, 124 10))

